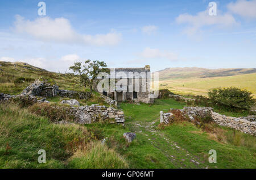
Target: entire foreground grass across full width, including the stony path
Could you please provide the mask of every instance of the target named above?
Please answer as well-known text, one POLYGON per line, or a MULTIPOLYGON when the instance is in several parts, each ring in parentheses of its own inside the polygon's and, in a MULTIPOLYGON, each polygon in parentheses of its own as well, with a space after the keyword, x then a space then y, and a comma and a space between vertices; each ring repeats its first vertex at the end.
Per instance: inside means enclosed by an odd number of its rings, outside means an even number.
POLYGON ((256 168, 254 136, 215 127, 222 132, 216 138, 189 122, 158 127, 159 110, 183 106, 172 99, 151 106, 121 103, 123 127, 54 124, 27 109, 2 104, 0 168, 256 168), (135 132, 137 139, 127 143, 125 132, 135 132), (38 164, 39 149, 46 150, 46 164, 38 164), (217 151, 217 164, 208 162, 210 149, 217 151))

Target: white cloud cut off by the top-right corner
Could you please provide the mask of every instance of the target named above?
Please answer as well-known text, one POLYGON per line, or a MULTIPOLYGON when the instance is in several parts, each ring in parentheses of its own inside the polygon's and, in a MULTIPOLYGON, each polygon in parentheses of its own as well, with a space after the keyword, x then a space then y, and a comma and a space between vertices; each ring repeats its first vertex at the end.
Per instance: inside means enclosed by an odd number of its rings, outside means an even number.
POLYGON ((239 0, 228 4, 228 10, 244 18, 256 18, 256 0, 239 0))

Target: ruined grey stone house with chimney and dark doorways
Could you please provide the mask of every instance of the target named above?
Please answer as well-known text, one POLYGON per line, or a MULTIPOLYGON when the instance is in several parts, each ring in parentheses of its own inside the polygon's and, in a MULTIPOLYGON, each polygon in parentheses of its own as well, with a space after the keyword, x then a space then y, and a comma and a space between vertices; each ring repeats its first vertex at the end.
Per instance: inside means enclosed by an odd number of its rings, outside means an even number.
POLYGON ((109 69, 108 77, 98 77, 93 89, 106 95, 117 102, 134 101, 153 103, 150 98, 150 66, 144 68, 113 68, 109 69), (102 80, 104 79, 104 80, 102 80), (109 87, 102 86, 104 90, 98 89, 97 85, 105 82, 109 87))

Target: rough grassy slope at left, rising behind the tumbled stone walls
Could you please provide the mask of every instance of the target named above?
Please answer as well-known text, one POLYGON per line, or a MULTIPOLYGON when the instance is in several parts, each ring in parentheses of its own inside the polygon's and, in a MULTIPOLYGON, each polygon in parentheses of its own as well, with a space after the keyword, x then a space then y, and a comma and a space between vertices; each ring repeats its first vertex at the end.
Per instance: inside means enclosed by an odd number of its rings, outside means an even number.
POLYGON ((72 74, 48 72, 24 62, 0 61, 0 92, 16 95, 27 87, 36 78, 53 79, 60 89, 84 90, 77 85, 77 78, 72 74))

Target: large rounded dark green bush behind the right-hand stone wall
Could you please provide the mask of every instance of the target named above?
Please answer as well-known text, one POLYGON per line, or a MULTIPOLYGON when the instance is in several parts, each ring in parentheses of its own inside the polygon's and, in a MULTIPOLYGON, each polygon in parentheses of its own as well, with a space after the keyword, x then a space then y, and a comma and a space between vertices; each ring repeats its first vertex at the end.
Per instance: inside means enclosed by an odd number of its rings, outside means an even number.
POLYGON ((237 87, 213 89, 208 92, 208 95, 213 104, 233 110, 249 110, 255 103, 249 91, 237 87))

